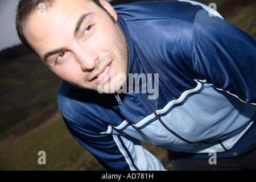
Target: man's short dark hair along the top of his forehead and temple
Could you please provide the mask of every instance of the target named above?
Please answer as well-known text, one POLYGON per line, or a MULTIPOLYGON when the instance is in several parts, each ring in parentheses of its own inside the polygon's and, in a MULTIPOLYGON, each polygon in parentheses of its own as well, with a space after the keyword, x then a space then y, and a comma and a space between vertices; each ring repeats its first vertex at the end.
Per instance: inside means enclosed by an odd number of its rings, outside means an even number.
MULTIPOLYGON (((101 5, 99 0, 92 0, 96 5, 100 6, 102 9, 104 7, 101 5)), ((24 44, 24 46, 30 48, 33 52, 34 49, 27 42, 26 36, 24 35, 24 23, 28 19, 28 17, 36 11, 38 5, 40 3, 44 3, 46 6, 50 7, 55 2, 55 0, 20 0, 18 3, 18 7, 16 9, 16 31, 18 33, 20 41, 24 44)), ((105 10, 105 9, 104 9, 105 10)))

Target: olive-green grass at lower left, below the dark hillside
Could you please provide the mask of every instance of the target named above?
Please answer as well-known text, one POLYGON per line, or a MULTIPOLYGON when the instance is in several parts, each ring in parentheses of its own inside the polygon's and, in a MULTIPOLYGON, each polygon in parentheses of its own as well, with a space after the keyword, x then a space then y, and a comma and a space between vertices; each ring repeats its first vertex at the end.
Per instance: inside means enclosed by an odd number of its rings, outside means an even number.
MULTIPOLYGON (((167 153, 163 148, 143 143, 164 166, 167 153)), ((0 146, 2 171, 98 171, 105 170, 100 163, 69 134, 63 119, 58 118, 39 127, 21 139, 0 146), (38 152, 46 152, 46 165, 38 164, 38 152)))

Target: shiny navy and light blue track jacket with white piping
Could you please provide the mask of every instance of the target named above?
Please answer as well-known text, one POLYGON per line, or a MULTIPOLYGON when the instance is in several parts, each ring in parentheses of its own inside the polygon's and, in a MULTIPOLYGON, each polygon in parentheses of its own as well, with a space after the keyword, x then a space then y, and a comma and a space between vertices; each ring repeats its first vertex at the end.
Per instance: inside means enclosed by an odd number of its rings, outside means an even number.
POLYGON ((255 39, 188 2, 114 8, 129 48, 127 92, 61 81, 58 96, 68 130, 106 169, 164 169, 140 140, 208 158, 256 141, 255 39))

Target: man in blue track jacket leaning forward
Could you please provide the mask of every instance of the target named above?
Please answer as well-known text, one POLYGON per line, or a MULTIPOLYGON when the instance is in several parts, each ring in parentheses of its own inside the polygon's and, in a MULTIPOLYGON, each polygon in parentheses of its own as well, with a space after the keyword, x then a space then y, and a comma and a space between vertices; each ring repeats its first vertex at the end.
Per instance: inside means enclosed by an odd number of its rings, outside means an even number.
POLYGON ((20 1, 20 39, 63 79, 64 121, 107 169, 163 170, 139 140, 172 170, 256 169, 255 39, 194 3, 20 1))

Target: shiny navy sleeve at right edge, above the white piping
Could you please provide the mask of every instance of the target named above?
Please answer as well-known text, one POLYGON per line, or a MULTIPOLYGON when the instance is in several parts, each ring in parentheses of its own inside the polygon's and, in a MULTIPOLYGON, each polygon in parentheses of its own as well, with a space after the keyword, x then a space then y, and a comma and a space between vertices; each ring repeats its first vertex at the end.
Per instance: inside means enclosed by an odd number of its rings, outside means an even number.
POLYGON ((193 69, 201 80, 240 100, 256 102, 256 40, 199 10, 193 24, 193 69))

